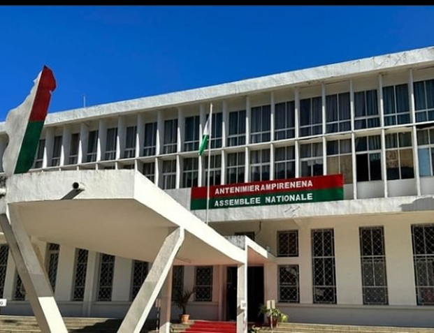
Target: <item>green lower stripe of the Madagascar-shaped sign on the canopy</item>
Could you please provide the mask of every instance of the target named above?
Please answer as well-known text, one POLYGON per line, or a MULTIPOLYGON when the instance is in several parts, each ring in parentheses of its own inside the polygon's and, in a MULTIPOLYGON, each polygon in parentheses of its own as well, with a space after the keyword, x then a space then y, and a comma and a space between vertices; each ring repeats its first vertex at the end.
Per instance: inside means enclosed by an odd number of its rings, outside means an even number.
POLYGON ((20 153, 18 154, 17 165, 15 166, 15 174, 27 172, 33 165, 43 126, 43 121, 31 121, 27 124, 20 153))

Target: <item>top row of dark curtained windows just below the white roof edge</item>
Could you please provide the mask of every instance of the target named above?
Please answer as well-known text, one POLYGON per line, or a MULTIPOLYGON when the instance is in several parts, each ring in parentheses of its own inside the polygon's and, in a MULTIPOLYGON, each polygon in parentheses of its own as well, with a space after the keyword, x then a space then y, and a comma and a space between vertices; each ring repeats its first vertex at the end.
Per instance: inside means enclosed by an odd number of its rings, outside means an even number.
MULTIPOLYGON (((398 84, 383 88, 384 98, 384 125, 410 123, 410 98, 407 84, 398 84)), ((288 101, 275 104, 275 140, 295 138, 296 118, 295 103, 288 101)), ((434 120, 434 80, 414 82, 415 120, 434 120)), ((251 143, 270 141, 271 106, 262 105, 252 108, 250 117, 251 143)), ((300 101, 299 133, 300 137, 323 134, 323 113, 321 96, 305 98, 300 101)), ((325 101, 326 133, 347 132, 351 130, 351 112, 349 92, 327 95, 325 101)), ((199 116, 185 118, 185 140, 183 151, 195 151, 199 144, 199 116)), ((358 91, 354 93, 354 128, 376 128, 380 126, 377 90, 358 91)), ((212 140, 211 148, 222 147, 222 112, 212 114, 212 140)), ((137 126, 127 126, 124 136, 124 151, 120 158, 133 158, 136 155, 137 126)), ((227 145, 245 145, 246 138, 246 111, 229 112, 229 127, 227 145)), ((144 125, 143 147, 140 156, 154 156, 156 154, 157 122, 144 125)), ((84 163, 96 161, 99 131, 89 131, 87 150, 83 156, 84 163)), ((65 164, 76 164, 78 161, 80 133, 71 134, 71 142, 67 161, 65 164)), ((177 151, 178 119, 164 121, 163 154, 177 151)), ((41 168, 43 161, 43 145, 36 154, 34 168, 41 168)), ((108 128, 106 133, 106 147, 101 159, 111 161, 116 158, 117 127, 108 128)), ((62 149, 62 135, 54 138, 52 158, 48 166, 59 165, 62 149)))

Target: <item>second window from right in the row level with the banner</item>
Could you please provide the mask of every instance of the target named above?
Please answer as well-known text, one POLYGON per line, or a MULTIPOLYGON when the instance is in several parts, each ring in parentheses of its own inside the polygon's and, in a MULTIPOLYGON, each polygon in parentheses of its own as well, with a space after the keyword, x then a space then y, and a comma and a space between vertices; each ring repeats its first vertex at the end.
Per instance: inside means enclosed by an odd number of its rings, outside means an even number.
POLYGON ((412 133, 386 135, 387 180, 414 178, 412 133))

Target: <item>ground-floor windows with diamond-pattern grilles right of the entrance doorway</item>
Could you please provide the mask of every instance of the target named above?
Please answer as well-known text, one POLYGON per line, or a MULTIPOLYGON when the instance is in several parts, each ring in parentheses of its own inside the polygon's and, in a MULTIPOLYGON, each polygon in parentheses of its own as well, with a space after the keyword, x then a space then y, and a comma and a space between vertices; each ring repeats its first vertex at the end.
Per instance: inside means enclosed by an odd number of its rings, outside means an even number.
MULTIPOLYGON (((418 305, 434 305, 434 225, 412 225, 412 250, 418 305)), ((359 228, 363 304, 389 304, 382 226, 359 228)), ((277 256, 298 256, 298 231, 277 235, 277 256)), ((300 302, 298 265, 278 267, 279 302, 300 302)), ((335 304, 333 229, 312 230, 312 292, 314 303, 335 304)))

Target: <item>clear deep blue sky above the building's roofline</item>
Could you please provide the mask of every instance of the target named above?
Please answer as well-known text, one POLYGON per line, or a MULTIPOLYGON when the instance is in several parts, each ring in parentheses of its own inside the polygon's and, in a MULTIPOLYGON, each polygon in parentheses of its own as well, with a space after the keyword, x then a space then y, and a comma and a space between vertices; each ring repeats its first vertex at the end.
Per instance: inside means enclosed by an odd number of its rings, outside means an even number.
POLYGON ((0 120, 45 64, 49 112, 434 45, 434 6, 0 6, 0 120))

